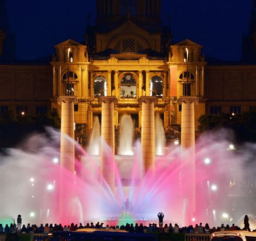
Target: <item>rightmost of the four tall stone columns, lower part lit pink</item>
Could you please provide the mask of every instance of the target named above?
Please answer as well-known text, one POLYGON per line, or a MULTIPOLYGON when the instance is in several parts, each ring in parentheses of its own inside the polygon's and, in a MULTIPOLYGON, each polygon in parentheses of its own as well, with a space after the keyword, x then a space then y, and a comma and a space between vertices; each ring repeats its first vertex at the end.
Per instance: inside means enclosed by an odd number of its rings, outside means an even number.
MULTIPOLYGON (((194 104, 198 98, 181 96, 178 103, 181 110, 181 195, 187 200, 190 215, 196 212, 196 160, 195 160, 195 132, 194 132, 194 104)), ((192 217, 192 216, 191 216, 192 217)), ((184 219, 184 223, 189 220, 184 219)))

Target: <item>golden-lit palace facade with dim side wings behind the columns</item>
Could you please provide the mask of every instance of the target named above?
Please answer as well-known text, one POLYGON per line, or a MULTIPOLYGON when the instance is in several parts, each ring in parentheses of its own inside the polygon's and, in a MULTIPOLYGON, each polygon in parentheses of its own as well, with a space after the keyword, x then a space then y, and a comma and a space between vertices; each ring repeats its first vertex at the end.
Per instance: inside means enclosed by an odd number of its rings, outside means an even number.
MULTIPOLYGON (((172 43, 170 26, 161 25, 160 8, 160 0, 97 0, 96 25, 87 26, 84 44, 71 39, 57 44, 48 65, 0 65, 1 112, 60 111, 57 97, 74 95, 75 122, 90 130, 93 117, 101 114, 98 98, 115 96, 115 125, 120 115, 130 114, 139 128, 138 98, 156 96, 155 112, 167 131, 180 125, 177 99, 186 94, 199 98, 196 129, 202 114, 256 106, 255 66, 207 65, 203 46, 188 39, 172 43)), ((4 38, 0 31, 0 50, 4 38)))

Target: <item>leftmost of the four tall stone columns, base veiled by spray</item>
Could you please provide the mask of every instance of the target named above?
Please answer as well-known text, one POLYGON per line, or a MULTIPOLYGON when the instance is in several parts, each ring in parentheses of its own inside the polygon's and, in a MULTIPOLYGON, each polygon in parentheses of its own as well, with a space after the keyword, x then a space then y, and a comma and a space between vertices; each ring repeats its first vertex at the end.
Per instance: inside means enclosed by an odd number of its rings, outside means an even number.
POLYGON ((60 166, 70 172, 75 171, 74 104, 78 103, 75 96, 59 96, 58 104, 62 105, 62 122, 60 130, 60 166))

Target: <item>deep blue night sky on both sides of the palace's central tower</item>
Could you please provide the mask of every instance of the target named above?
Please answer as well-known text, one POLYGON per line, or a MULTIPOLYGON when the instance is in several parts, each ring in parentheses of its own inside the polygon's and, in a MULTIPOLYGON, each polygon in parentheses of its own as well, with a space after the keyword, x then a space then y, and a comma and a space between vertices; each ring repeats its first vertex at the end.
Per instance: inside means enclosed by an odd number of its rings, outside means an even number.
MULTIPOLYGON (((167 23, 167 14, 171 15, 173 42, 191 39, 204 46, 206 56, 239 60, 252 0, 162 2, 163 23, 167 23)), ((89 12, 90 23, 95 22, 95 0, 6 0, 6 5, 21 60, 49 56, 53 46, 66 39, 83 41, 89 12)))

